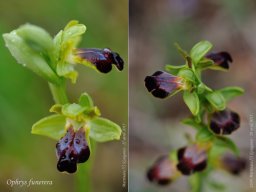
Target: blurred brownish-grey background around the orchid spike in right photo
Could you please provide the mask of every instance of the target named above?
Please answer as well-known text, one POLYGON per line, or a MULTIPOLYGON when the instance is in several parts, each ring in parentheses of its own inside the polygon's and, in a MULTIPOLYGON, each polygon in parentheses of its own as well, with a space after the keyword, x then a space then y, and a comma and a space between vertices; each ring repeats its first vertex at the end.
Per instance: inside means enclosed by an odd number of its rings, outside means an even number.
MULTIPOLYGON (((184 134, 194 132, 179 123, 189 115, 181 94, 165 100, 154 98, 146 90, 144 78, 163 70, 165 64, 183 64, 175 42, 190 50, 198 41, 209 40, 213 51, 230 52, 234 62, 227 73, 208 71, 203 78, 216 89, 235 85, 245 89, 245 94, 228 106, 241 116, 241 127, 231 138, 248 160, 250 116, 256 121, 256 1, 130 0, 129 4, 130 191, 188 192, 187 177, 167 187, 146 179, 147 169, 158 156, 186 145, 184 134)), ((252 169, 255 174, 255 166, 252 169)), ((255 182, 256 177, 253 179, 255 182)), ((212 180, 224 184, 226 192, 256 191, 255 186, 249 188, 249 166, 238 177, 216 171, 212 180)), ((213 191, 220 190, 204 189, 213 191)))

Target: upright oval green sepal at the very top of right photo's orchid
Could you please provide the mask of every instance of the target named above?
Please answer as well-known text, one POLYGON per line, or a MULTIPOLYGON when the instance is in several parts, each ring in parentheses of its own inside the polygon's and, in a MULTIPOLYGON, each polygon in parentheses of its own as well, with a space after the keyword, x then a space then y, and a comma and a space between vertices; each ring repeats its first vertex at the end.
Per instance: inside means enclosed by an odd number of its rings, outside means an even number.
POLYGON ((200 41, 190 51, 190 56, 195 65, 206 55, 212 48, 212 44, 209 41, 200 41))

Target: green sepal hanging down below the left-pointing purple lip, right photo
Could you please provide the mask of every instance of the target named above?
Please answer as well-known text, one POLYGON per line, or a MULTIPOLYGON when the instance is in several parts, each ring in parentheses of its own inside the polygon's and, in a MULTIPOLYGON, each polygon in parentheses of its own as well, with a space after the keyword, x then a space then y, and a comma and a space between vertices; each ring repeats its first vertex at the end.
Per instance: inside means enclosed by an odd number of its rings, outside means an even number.
POLYGON ((193 115, 197 115, 200 109, 199 98, 196 92, 184 91, 183 99, 193 115))

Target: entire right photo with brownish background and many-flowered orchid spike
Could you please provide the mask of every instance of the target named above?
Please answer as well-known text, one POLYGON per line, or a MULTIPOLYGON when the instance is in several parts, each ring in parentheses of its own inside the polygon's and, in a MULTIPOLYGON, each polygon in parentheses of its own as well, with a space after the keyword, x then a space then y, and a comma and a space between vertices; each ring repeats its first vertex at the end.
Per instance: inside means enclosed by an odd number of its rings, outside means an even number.
POLYGON ((129 191, 256 192, 256 2, 129 1, 129 191))

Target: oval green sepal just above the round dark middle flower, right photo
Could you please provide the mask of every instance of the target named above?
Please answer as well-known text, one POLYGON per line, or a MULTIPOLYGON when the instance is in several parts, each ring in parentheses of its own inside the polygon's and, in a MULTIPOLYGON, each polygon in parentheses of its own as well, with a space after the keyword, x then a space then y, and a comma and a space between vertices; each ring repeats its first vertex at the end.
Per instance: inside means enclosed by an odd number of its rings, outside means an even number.
POLYGON ((222 111, 226 108, 225 98, 218 91, 214 91, 212 93, 207 94, 206 99, 218 111, 222 111))

